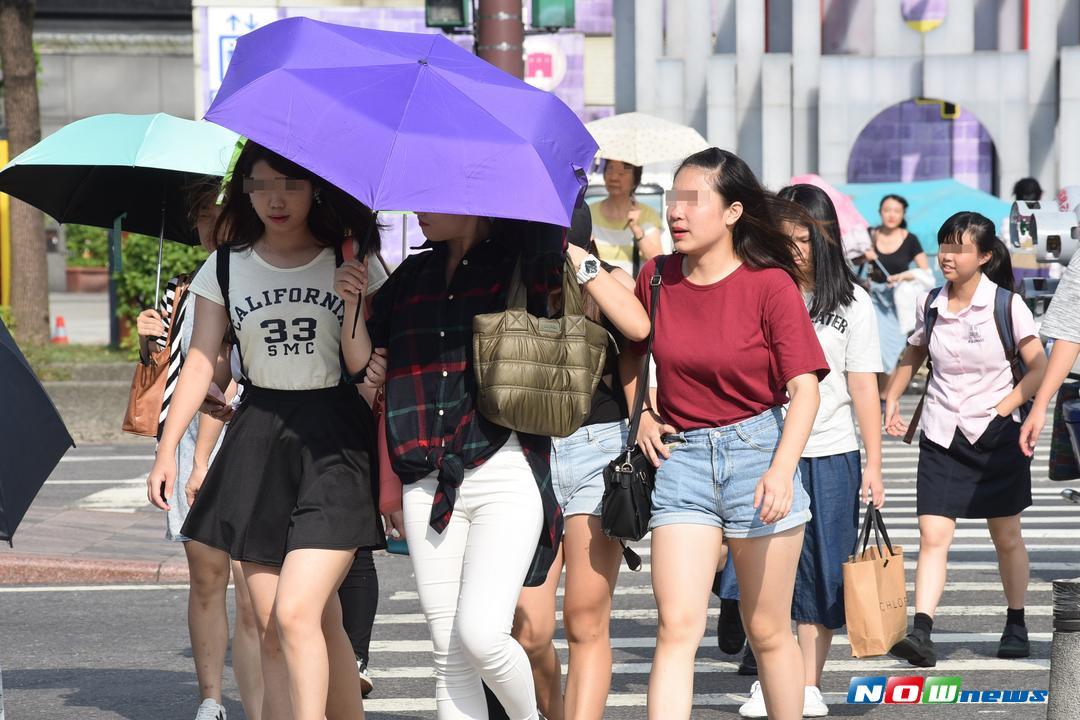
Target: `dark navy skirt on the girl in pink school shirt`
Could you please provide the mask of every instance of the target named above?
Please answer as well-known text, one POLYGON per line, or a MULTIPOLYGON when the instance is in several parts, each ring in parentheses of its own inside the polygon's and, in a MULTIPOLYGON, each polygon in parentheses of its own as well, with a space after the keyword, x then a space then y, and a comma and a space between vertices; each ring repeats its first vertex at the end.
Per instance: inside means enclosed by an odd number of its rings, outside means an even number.
POLYGON ((1020 423, 995 417, 974 444, 956 431, 947 447, 919 439, 919 515, 989 518, 1031 505, 1031 460, 1020 449, 1020 423))

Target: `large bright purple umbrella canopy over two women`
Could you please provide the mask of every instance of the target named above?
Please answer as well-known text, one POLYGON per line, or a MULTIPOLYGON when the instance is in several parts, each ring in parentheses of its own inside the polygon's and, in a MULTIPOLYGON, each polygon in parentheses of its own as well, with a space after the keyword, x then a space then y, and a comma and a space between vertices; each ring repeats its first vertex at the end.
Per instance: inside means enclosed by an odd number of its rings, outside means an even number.
POLYGON ((376 210, 564 227, 596 151, 562 100, 442 35, 305 17, 240 38, 206 119, 376 210))

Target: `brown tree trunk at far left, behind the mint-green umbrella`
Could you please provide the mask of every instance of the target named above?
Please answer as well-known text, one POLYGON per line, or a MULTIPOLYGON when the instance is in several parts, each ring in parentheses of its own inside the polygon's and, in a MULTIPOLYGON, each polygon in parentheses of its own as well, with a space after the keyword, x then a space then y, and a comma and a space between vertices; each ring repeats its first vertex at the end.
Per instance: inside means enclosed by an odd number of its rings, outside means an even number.
MULTIPOLYGON (((33 54, 35 0, 0 0, 0 72, 12 157, 41 139, 38 69, 33 54)), ((11 310, 22 342, 49 340, 49 271, 41 210, 11 200, 11 310)))

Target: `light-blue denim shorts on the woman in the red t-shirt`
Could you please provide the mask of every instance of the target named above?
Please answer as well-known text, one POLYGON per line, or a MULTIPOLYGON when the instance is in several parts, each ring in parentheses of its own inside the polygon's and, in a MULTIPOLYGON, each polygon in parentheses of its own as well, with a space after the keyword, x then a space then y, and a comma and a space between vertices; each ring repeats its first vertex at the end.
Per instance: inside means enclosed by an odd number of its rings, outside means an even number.
POLYGON ((652 491, 650 528, 708 525, 728 538, 761 538, 804 525, 810 498, 798 471, 792 476, 792 510, 766 525, 754 507, 754 491, 780 443, 780 408, 725 427, 703 427, 677 435, 671 458, 660 464, 652 491))

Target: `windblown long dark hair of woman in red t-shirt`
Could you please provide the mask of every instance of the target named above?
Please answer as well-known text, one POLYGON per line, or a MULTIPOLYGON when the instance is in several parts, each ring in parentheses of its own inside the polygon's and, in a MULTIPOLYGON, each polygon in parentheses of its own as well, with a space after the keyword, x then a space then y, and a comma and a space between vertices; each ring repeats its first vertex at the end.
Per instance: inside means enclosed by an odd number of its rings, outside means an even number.
POLYGON ((708 148, 681 162, 675 174, 699 167, 710 176, 713 189, 729 205, 742 203, 743 213, 731 230, 735 255, 755 270, 780 268, 798 283, 795 242, 783 222, 813 225, 801 207, 761 187, 750 166, 733 152, 708 148))

